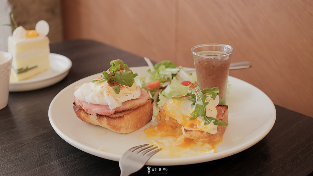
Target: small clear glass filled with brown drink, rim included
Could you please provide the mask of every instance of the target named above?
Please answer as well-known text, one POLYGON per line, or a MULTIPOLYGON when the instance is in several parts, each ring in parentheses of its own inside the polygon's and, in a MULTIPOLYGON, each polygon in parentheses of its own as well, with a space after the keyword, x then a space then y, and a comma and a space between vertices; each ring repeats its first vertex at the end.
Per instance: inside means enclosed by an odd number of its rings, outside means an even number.
POLYGON ((191 51, 200 89, 218 87, 219 105, 226 105, 233 48, 224 44, 202 44, 193 47, 191 51))

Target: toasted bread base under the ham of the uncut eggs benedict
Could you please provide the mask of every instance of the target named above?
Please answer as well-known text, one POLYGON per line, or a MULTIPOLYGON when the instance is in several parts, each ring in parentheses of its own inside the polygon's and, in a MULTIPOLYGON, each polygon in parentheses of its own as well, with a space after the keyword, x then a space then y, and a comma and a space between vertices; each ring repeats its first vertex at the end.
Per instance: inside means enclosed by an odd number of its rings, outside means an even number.
POLYGON ((100 125, 117 133, 131 133, 148 123, 152 119, 153 99, 146 104, 112 115, 89 114, 80 106, 73 103, 76 116, 86 123, 100 125))

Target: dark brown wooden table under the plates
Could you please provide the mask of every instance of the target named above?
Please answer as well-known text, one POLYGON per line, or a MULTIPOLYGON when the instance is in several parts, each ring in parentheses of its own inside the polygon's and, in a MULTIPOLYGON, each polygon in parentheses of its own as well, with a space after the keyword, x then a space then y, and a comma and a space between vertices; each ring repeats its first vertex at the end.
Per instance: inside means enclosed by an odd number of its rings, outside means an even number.
MULTIPOLYGON (((48 108, 69 84, 121 59, 130 67, 143 58, 91 40, 51 44, 51 53, 70 58, 66 78, 47 88, 9 93, 0 110, 0 175, 120 175, 116 161, 85 153, 65 142, 51 127, 48 108)), ((232 156, 183 166, 151 166, 160 175, 308 175, 313 173, 313 118, 275 105, 274 127, 254 146, 232 156), (159 171, 158 169, 162 171, 159 171), (163 170, 164 169, 164 170, 163 170)), ((144 166, 133 175, 148 175, 144 166)))

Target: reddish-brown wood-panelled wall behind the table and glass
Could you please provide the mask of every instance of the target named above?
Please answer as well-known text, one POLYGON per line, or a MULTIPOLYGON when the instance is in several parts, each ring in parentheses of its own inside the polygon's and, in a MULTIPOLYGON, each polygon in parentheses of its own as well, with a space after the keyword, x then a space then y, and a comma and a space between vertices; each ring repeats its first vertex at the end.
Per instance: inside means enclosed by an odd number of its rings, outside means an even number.
MULTIPOLYGON (((230 75, 313 117, 311 0, 63 0, 64 38, 93 39, 154 61, 193 67, 190 49, 233 46, 230 75)), ((117 58, 112 58, 117 59, 117 58)))

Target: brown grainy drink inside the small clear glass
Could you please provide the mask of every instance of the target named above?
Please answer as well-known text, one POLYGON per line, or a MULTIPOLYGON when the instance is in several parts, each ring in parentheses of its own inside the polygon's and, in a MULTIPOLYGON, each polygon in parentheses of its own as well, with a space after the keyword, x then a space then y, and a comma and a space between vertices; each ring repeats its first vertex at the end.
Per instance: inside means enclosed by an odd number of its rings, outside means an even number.
MULTIPOLYGON (((203 51, 198 53, 203 55, 225 54, 219 51, 203 51)), ((219 105, 225 105, 230 65, 229 55, 220 58, 204 58, 195 55, 193 57, 200 89, 218 87, 219 105)))

